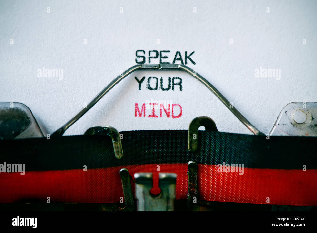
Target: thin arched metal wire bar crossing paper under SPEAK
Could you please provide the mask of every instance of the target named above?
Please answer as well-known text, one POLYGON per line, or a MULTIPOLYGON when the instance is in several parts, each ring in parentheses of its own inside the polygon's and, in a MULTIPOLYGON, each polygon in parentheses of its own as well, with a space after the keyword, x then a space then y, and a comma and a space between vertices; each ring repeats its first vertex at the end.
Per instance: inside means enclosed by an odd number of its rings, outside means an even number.
POLYGON ((182 70, 193 76, 195 79, 204 84, 217 98, 238 118, 252 133, 255 135, 264 135, 261 133, 255 126, 253 126, 234 106, 230 107, 230 102, 214 87, 204 79, 203 76, 198 74, 195 70, 189 68, 186 65, 180 64, 138 64, 135 65, 122 74, 117 76, 113 81, 111 81, 107 87, 105 87, 96 97, 91 100, 87 107, 83 108, 79 113, 77 113, 71 120, 69 120, 65 125, 56 130, 51 136, 61 136, 63 133, 72 126, 82 115, 84 115, 90 108, 92 108, 108 91, 110 91, 115 85, 117 85, 122 79, 124 79, 129 74, 133 73, 136 70, 182 70))

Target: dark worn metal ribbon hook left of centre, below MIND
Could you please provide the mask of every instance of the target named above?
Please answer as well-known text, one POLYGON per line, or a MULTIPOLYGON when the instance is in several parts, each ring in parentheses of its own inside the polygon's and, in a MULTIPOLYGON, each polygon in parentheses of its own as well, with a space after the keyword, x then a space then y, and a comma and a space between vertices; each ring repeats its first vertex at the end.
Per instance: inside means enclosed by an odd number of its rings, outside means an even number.
POLYGON ((115 157, 117 159, 121 159, 123 157, 123 150, 122 150, 122 145, 121 145, 121 140, 120 140, 120 134, 115 128, 113 128, 111 126, 96 126, 96 127, 91 127, 89 129, 87 129, 85 134, 110 136, 112 139, 112 145, 113 145, 115 157))

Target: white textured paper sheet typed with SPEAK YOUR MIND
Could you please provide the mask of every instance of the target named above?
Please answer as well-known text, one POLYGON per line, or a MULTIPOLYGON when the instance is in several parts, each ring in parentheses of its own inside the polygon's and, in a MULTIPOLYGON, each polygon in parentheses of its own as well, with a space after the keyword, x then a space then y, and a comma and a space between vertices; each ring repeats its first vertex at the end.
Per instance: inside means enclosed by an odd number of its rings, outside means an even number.
MULTIPOLYGON (((0 1, 0 101, 24 103, 43 132, 53 133, 135 65, 136 50, 170 50, 169 62, 177 51, 183 59, 185 51, 195 51, 196 64, 188 66, 269 133, 286 104, 317 102, 316 10, 316 1, 0 1), (38 77, 42 67, 63 69, 63 79, 38 77), (281 69, 281 79, 255 77, 260 67, 281 69)), ((65 135, 99 125, 118 131, 187 129, 203 115, 219 131, 251 133, 190 75, 135 72, 65 135), (181 77, 183 90, 149 90, 146 80, 139 90, 134 76, 181 77), (181 105, 182 116, 149 118, 146 109, 146 117, 135 117, 135 103, 141 107, 151 99, 181 105)))

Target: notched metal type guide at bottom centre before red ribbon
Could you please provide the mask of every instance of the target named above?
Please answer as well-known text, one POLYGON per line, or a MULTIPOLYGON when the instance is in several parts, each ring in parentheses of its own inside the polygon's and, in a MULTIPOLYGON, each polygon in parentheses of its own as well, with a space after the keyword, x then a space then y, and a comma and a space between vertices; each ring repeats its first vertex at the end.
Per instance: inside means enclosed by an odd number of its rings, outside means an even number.
POLYGON ((135 173, 135 198, 138 211, 174 211, 176 197, 175 173, 159 173, 158 195, 151 194, 152 173, 135 173))

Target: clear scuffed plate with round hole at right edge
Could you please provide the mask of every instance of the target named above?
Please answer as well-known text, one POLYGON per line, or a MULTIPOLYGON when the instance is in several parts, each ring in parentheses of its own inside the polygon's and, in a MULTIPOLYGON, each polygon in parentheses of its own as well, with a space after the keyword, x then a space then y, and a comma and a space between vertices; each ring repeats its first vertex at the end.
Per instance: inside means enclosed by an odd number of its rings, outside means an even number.
POLYGON ((317 103, 289 103, 281 111, 271 136, 317 136, 317 103))

